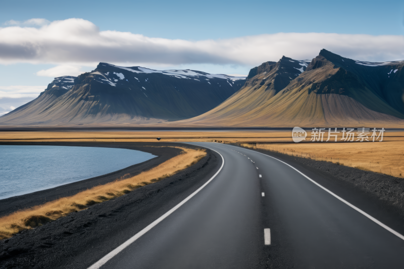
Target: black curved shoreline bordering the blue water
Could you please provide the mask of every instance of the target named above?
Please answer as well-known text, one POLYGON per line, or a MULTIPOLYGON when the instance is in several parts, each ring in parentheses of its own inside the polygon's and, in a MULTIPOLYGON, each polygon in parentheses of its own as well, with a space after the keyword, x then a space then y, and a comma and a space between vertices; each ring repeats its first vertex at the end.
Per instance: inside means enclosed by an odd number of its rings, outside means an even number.
POLYGON ((180 143, 156 143, 156 142, 0 142, 0 145, 49 145, 49 146, 83 146, 83 147, 110 147, 125 148, 148 152, 157 157, 120 169, 105 175, 64 184, 54 188, 31 192, 23 195, 0 199, 0 217, 13 213, 20 209, 29 208, 45 202, 53 201, 61 197, 72 196, 80 191, 96 185, 103 185, 115 181, 124 176, 135 176, 143 171, 150 170, 166 160, 178 155, 180 150, 173 147, 155 147, 168 145, 181 145, 180 143))

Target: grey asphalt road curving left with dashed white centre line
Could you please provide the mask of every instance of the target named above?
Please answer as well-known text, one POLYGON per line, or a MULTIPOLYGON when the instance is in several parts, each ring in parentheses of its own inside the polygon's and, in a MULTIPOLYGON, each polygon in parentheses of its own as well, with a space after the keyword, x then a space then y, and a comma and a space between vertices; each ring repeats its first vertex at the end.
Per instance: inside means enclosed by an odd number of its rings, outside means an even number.
POLYGON ((192 144, 219 152, 220 172, 90 268, 404 267, 400 234, 315 184, 320 176, 249 149, 192 144))

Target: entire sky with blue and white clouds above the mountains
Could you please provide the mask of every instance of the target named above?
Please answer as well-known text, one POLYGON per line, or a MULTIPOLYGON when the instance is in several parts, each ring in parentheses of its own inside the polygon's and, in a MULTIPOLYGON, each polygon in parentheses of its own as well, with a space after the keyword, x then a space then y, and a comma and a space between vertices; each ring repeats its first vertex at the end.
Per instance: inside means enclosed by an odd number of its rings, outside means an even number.
POLYGON ((53 78, 99 62, 248 74, 326 48, 404 59, 402 1, 7 1, 0 9, 0 116, 53 78))

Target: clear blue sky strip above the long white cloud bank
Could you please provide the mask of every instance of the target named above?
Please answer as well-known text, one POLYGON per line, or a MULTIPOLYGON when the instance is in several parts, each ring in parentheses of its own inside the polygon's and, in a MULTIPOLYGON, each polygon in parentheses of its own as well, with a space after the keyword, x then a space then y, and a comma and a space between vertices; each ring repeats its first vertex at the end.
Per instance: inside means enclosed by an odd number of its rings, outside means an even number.
POLYGON ((5 1, 2 21, 82 18, 100 30, 170 39, 278 32, 402 35, 402 1, 5 1))

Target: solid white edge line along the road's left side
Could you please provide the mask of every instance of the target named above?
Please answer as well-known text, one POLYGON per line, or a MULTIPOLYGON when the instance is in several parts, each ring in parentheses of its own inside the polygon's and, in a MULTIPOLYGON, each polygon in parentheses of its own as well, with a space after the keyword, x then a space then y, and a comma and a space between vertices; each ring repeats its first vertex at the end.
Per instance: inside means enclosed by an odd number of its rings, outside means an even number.
MULTIPOLYGON (((217 152, 214 149, 211 149, 215 152, 217 152)), ((110 253, 108 253, 107 255, 105 255, 104 257, 102 257, 100 260, 98 260, 97 262, 95 262, 93 265, 91 265, 90 267, 88 267, 88 269, 98 269, 101 266, 103 266, 107 261, 109 261, 110 259, 112 259, 115 255, 117 255, 119 252, 121 252, 123 249, 125 249, 127 246, 129 246, 130 244, 132 244, 133 242, 135 242, 139 237, 141 237, 142 235, 144 235, 145 233, 147 233, 148 231, 151 230, 151 228, 155 227, 156 225, 158 225, 161 221, 163 221, 165 218, 167 218, 168 216, 170 216, 170 214, 172 212, 174 212, 175 210, 177 210, 181 205, 183 205, 184 203, 186 203, 189 199, 191 199, 196 193, 198 193, 201 189, 205 188, 206 185, 209 184, 209 182, 211 182, 218 174, 219 172, 222 170, 223 165, 224 165, 224 158, 222 156, 222 154, 220 154, 219 152, 217 152, 221 157, 222 157, 222 166, 220 167, 220 169, 216 172, 215 175, 213 175, 213 177, 208 180, 204 185, 200 186, 199 189, 197 189, 196 191, 194 191, 192 194, 190 194, 188 197, 186 197, 184 200, 182 200, 179 204, 177 204, 176 206, 174 206, 173 208, 171 208, 169 211, 167 211, 163 216, 161 216, 159 219, 157 219, 156 221, 150 223, 149 225, 147 225, 143 230, 141 230, 140 232, 138 232, 137 234, 135 234, 134 236, 132 236, 131 238, 129 238, 128 240, 126 240, 122 245, 120 245, 119 247, 117 247, 116 249, 114 249, 113 251, 111 251, 110 253)))

